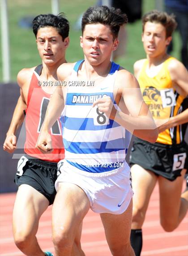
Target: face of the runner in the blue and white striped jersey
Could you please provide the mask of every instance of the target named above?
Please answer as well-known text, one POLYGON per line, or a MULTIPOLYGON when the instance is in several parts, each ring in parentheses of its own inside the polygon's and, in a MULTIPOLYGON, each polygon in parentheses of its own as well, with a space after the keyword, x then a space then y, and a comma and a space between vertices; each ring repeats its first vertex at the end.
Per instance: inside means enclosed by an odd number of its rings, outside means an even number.
POLYGON ((110 27, 100 23, 85 25, 80 40, 85 57, 91 65, 109 61, 111 52, 118 46, 118 40, 113 41, 110 27))

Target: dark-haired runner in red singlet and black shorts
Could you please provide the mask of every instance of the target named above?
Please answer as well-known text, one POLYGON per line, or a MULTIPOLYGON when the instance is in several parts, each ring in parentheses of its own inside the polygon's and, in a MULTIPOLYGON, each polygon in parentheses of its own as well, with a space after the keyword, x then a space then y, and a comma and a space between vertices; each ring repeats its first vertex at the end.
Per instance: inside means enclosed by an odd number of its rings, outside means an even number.
MULTIPOLYGON (((42 64, 24 68, 17 75, 21 95, 4 141, 4 150, 9 153, 15 150, 15 134, 26 113, 26 154, 18 162, 15 177, 19 188, 13 209, 14 241, 27 256, 52 256, 51 252, 42 251, 36 233, 40 216, 54 201, 57 162, 64 158, 59 120, 51 128, 54 151, 43 154, 35 145, 51 94, 56 88, 53 86, 57 82, 56 70, 66 62, 65 51, 69 44, 68 20, 63 14, 38 15, 33 20, 33 32, 42 64)), ((80 236, 81 232, 78 230, 72 255, 83 255, 80 236)))

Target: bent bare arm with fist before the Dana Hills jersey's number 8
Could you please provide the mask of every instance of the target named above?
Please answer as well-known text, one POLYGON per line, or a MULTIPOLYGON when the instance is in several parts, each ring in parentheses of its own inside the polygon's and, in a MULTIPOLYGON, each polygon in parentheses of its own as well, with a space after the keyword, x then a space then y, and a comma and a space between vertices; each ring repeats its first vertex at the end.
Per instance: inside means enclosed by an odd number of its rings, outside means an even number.
POLYGON ((117 111, 110 97, 98 99, 97 105, 100 112, 105 112, 135 136, 154 143, 158 137, 157 127, 154 123, 149 107, 144 102, 136 78, 129 72, 121 70, 116 84, 117 94, 121 94, 129 114, 117 111), (126 81, 126 86, 124 86, 126 81))

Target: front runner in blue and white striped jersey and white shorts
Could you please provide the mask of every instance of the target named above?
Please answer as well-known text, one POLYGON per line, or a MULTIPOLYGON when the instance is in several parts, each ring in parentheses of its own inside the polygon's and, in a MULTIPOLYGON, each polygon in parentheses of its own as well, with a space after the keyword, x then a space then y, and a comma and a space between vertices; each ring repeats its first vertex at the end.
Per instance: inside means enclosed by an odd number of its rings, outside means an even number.
POLYGON ((112 255, 134 255, 130 246, 132 188, 129 166, 124 161, 125 129, 150 127, 150 132, 137 130, 135 134, 151 142, 158 132, 134 76, 110 62, 112 51, 118 47, 120 26, 126 22, 120 9, 87 9, 81 36, 85 59, 63 64, 57 71, 67 86, 53 94, 38 140, 38 148, 44 153, 52 150, 48 130, 64 103, 66 161, 59 163, 53 205, 57 256, 71 255, 75 231, 90 208, 101 214, 112 255), (90 84, 94 86, 85 86, 90 84), (118 108, 120 100, 126 113, 118 108))

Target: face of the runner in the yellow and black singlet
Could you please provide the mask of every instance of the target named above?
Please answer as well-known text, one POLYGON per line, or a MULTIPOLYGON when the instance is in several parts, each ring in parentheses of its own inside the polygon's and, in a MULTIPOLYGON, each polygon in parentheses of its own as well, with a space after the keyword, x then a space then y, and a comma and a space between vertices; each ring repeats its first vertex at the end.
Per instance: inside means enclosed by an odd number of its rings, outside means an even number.
POLYGON ((166 29, 161 23, 146 22, 142 34, 145 53, 157 57, 166 52, 166 47, 171 41, 171 36, 166 38, 166 29))

